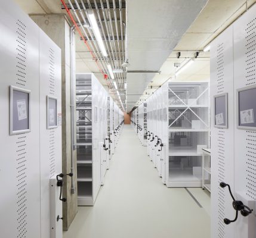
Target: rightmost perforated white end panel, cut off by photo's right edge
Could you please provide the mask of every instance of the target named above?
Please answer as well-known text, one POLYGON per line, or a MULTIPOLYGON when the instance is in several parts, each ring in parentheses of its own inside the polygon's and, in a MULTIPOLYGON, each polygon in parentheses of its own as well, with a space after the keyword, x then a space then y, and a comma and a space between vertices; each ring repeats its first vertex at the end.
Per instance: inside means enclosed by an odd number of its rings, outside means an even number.
MULTIPOLYGON (((256 6, 234 23, 234 93, 243 87, 255 86, 256 6)), ((255 211, 256 132, 236 128, 239 113, 235 97, 235 195, 255 211), (252 205, 253 204, 253 205, 252 205)), ((255 112, 254 112, 255 117, 255 112)), ((240 216, 235 224, 235 237, 256 236, 255 215, 240 216)))

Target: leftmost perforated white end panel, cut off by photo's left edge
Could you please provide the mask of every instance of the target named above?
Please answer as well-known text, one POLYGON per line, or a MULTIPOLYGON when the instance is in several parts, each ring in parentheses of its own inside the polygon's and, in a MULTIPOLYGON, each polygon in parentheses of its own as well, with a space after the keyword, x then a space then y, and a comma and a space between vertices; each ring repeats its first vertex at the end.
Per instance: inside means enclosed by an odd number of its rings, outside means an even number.
POLYGON ((1 237, 40 237, 39 28, 12 1, 0 1, 1 237), (31 91, 31 131, 10 136, 10 86, 31 91))

